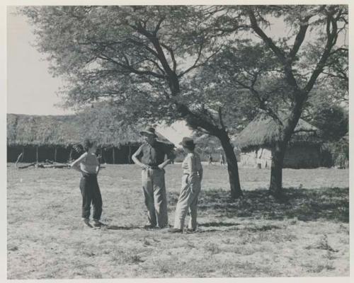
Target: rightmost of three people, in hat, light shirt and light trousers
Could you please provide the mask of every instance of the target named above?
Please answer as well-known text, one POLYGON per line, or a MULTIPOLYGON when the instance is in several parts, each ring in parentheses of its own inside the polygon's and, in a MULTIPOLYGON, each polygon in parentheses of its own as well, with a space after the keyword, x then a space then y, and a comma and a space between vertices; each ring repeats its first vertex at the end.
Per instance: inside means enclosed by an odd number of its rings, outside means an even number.
POLYGON ((193 139, 184 137, 181 145, 187 152, 187 156, 182 163, 182 186, 176 205, 174 226, 170 230, 171 233, 183 232, 185 216, 187 216, 188 211, 190 219, 187 231, 193 232, 197 229, 197 203, 201 189, 202 163, 199 155, 194 152, 195 144, 193 139))

